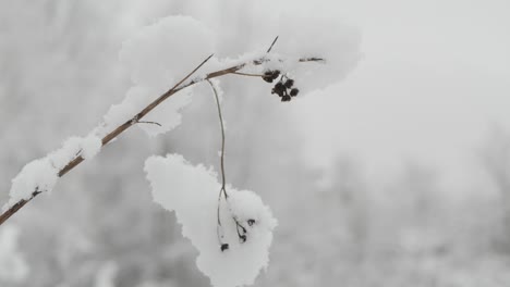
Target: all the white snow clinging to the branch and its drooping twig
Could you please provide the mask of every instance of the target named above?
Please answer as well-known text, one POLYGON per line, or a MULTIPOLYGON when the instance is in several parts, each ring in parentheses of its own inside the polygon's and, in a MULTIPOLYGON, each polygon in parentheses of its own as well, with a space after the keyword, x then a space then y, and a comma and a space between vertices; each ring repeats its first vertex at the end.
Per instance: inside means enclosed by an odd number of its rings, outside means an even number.
MULTIPOLYGON (((267 61, 262 65, 248 64, 243 72, 281 70, 282 74, 295 79, 301 95, 339 80, 359 61, 360 40, 355 29, 337 24, 336 20, 293 15, 262 23, 260 29, 268 30, 266 36, 281 36, 270 54, 265 52, 267 47, 254 47, 255 52, 230 54, 229 46, 224 46, 228 30, 212 32, 209 25, 191 16, 168 16, 141 29, 123 43, 120 51, 121 64, 133 80, 123 101, 112 105, 104 122, 88 136, 71 137, 61 149, 25 165, 12 180, 11 198, 4 209, 29 199, 36 190, 51 191, 59 171, 76 157, 94 158, 100 151, 101 137, 125 122, 133 121, 149 136, 175 128, 181 123, 181 110, 192 101, 192 88, 180 91, 143 118, 133 116, 214 52, 231 58, 211 58, 192 78, 204 79, 208 72, 265 57, 267 61), (300 27, 299 33, 296 27, 300 27), (217 41, 222 41, 222 50, 217 41), (324 58, 325 62, 300 63, 303 58, 324 58)), ((214 85, 221 97, 218 82, 214 85)), ((217 175, 203 165, 189 164, 177 154, 149 158, 145 171, 155 201, 175 211, 183 235, 199 251, 197 266, 209 276, 212 285, 253 284, 268 264, 268 249, 277 224, 260 198, 252 191, 228 187, 228 199, 218 201, 220 184, 217 175), (246 229, 245 241, 240 240, 239 224, 246 229), (222 244, 228 244, 229 248, 221 250, 222 244)))

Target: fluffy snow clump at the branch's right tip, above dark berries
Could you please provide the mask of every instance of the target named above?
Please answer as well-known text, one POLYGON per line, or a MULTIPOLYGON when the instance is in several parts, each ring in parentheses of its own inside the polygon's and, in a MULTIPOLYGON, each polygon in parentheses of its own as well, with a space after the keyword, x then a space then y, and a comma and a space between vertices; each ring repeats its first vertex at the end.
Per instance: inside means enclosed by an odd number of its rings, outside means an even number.
POLYGON ((277 22, 275 52, 290 59, 321 58, 325 62, 287 61, 286 71, 302 92, 342 79, 360 61, 361 34, 337 18, 284 14, 277 22), (295 27, 300 27, 296 32, 295 27))

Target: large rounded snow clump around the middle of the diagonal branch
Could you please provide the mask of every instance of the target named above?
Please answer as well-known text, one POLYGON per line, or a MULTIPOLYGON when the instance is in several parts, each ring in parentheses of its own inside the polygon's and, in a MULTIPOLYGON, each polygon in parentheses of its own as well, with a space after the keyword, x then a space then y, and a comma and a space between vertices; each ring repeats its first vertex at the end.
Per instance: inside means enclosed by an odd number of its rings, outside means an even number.
MULTIPOLYGON (((122 45, 121 64, 131 74, 134 86, 120 104, 105 115, 104 134, 132 120, 142 109, 168 91, 174 84, 215 51, 209 28, 190 16, 168 16, 142 28, 122 45)), ((209 60, 217 62, 216 59, 209 60)), ((169 132, 181 123, 180 110, 191 102, 191 89, 181 91, 158 105, 138 126, 149 136, 169 132)))

